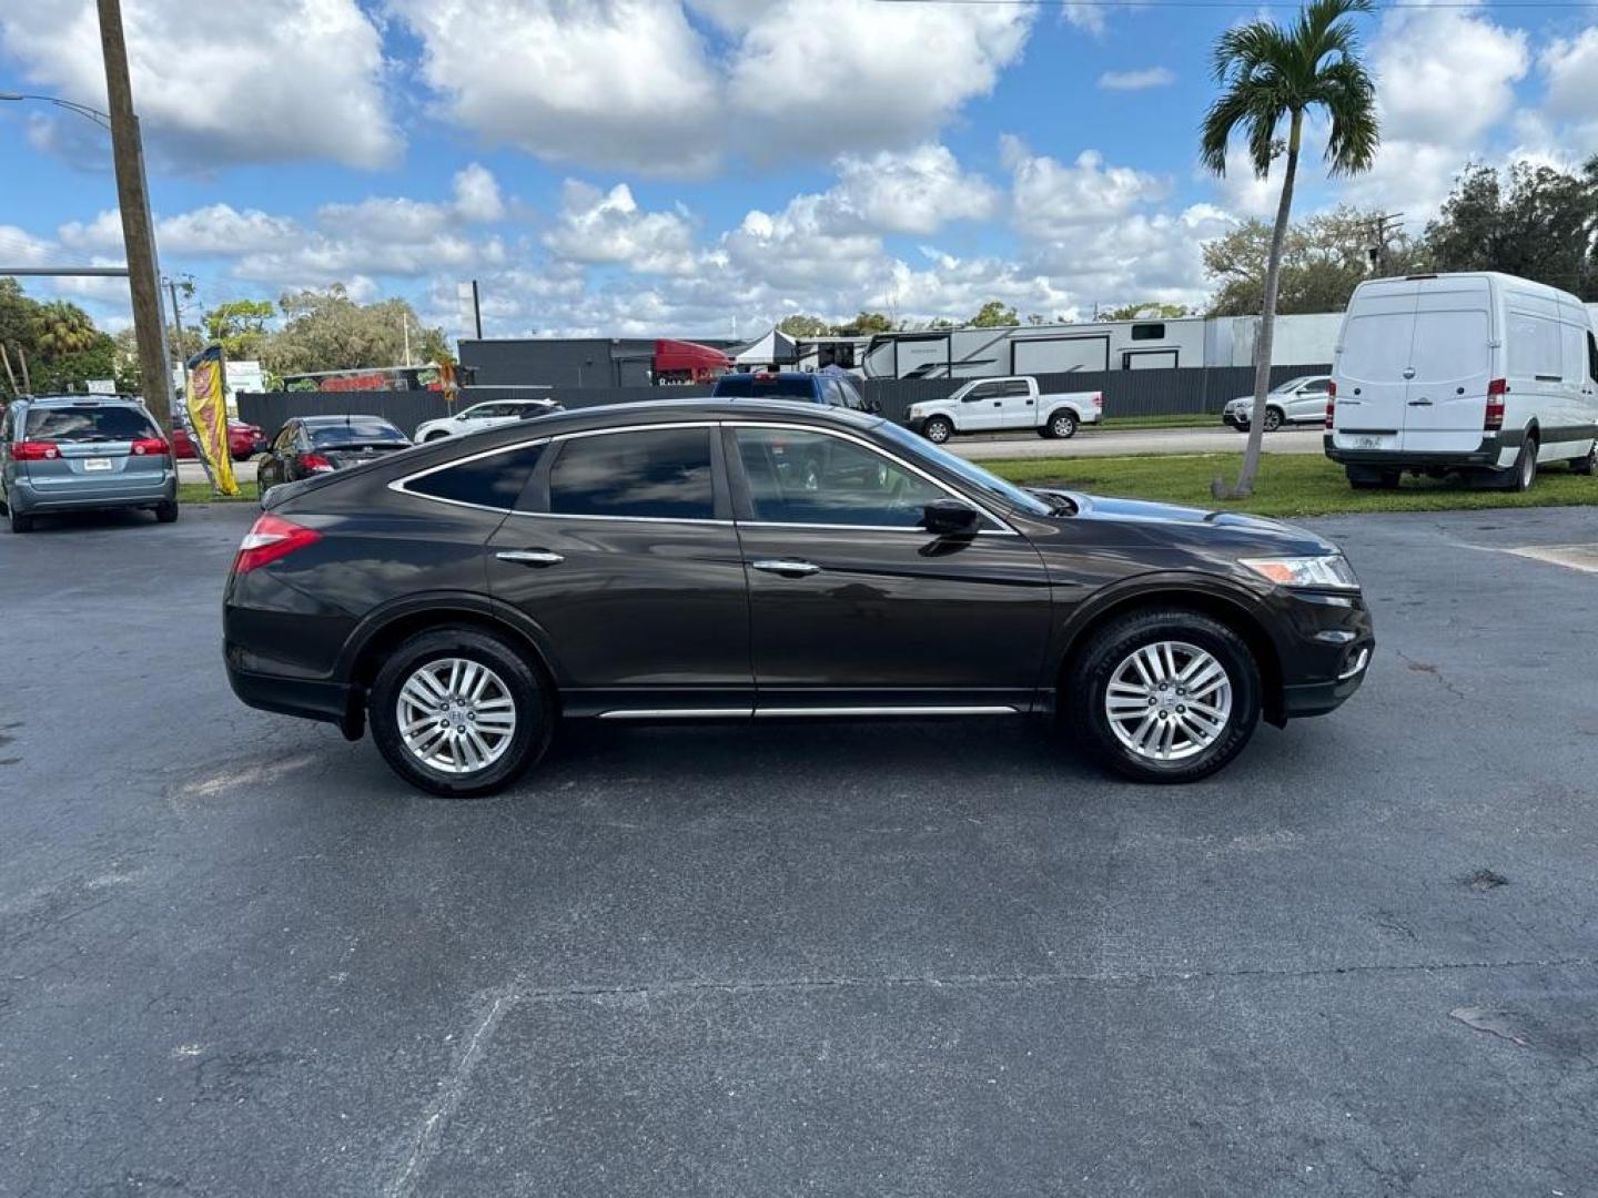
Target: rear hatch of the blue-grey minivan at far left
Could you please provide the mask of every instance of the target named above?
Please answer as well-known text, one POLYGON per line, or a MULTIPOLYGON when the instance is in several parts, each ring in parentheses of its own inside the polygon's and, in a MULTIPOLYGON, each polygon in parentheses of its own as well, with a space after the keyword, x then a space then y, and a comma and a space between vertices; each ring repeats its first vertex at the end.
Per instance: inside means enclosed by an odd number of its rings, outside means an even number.
POLYGON ((93 401, 34 407, 19 449, 19 470, 43 494, 157 486, 171 452, 142 409, 93 401))

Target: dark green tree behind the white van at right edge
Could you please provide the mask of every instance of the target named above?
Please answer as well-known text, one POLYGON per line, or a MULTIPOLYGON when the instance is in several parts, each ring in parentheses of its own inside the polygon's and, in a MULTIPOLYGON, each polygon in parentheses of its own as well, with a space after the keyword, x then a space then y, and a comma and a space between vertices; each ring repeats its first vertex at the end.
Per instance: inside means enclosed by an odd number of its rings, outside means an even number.
POLYGON ((1502 270, 1598 299, 1598 157, 1582 174, 1473 163, 1425 228, 1435 270, 1502 270))

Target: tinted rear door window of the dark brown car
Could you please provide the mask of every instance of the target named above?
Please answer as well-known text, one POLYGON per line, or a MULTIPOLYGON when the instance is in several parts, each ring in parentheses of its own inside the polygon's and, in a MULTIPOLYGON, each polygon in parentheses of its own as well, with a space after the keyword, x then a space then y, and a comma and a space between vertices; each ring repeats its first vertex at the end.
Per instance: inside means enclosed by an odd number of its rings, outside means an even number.
POLYGON ((617 519, 716 514, 708 428, 654 428, 562 441, 550 470, 550 511, 617 519))

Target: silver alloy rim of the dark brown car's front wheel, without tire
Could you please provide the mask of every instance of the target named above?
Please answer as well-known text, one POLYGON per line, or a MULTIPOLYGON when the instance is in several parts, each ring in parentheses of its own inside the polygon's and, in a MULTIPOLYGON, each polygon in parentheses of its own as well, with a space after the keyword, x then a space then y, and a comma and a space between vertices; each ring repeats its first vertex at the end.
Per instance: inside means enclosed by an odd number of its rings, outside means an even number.
POLYGON ((1157 641, 1133 650, 1111 674, 1104 714, 1115 740, 1135 756, 1187 760, 1226 733, 1232 679, 1198 645, 1157 641))

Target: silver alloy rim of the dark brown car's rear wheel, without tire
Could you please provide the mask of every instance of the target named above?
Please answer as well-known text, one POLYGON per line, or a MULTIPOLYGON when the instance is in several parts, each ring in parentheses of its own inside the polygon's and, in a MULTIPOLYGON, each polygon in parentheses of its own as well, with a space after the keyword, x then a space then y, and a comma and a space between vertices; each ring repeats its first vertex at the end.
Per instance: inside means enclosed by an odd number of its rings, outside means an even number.
POLYGON ((417 668, 400 688, 400 736, 415 760, 441 773, 486 770, 516 736, 516 700, 497 672, 470 658, 417 668))

